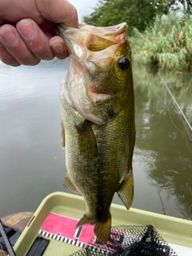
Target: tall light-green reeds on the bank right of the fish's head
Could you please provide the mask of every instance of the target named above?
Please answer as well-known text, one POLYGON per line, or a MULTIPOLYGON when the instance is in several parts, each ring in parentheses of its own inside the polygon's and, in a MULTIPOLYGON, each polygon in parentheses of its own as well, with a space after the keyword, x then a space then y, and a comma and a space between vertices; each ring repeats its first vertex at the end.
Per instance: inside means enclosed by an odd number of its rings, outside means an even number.
POLYGON ((129 38, 133 59, 161 69, 192 70, 192 18, 189 14, 157 17, 154 25, 129 38))

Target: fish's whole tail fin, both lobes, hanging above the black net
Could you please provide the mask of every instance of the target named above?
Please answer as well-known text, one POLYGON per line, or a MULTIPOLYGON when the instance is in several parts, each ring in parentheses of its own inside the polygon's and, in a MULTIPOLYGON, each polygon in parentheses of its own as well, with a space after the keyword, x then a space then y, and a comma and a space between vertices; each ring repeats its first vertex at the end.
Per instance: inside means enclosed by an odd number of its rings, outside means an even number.
POLYGON ((76 228, 85 224, 94 225, 94 234, 99 242, 106 243, 110 239, 111 214, 109 214, 106 220, 102 221, 90 219, 87 214, 84 214, 76 228))

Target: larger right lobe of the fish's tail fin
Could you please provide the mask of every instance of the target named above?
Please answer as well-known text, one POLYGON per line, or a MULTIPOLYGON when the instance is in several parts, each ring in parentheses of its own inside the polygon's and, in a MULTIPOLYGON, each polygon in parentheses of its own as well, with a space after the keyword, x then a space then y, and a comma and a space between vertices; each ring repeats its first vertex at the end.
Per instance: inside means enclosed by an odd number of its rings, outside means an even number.
POLYGON ((106 243, 110 239, 111 215, 105 221, 98 221, 94 225, 94 234, 99 242, 106 243))

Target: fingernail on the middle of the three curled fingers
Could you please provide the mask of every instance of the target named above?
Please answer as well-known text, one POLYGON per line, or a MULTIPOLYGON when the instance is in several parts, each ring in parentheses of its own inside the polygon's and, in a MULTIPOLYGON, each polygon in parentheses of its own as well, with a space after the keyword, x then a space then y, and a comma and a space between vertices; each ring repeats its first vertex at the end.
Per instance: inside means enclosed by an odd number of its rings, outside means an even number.
POLYGON ((17 29, 22 38, 26 38, 26 40, 34 39, 36 35, 34 23, 30 20, 22 19, 18 22, 17 29))

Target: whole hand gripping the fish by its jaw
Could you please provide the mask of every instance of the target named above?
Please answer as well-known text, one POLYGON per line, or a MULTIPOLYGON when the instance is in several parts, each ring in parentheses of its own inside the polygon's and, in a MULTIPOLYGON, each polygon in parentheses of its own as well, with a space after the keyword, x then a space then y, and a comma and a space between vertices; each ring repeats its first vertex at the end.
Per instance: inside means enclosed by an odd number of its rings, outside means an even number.
POLYGON ((7 65, 37 65, 41 60, 66 58, 54 23, 78 27, 77 10, 67 0, 1 0, 0 60, 7 65))

